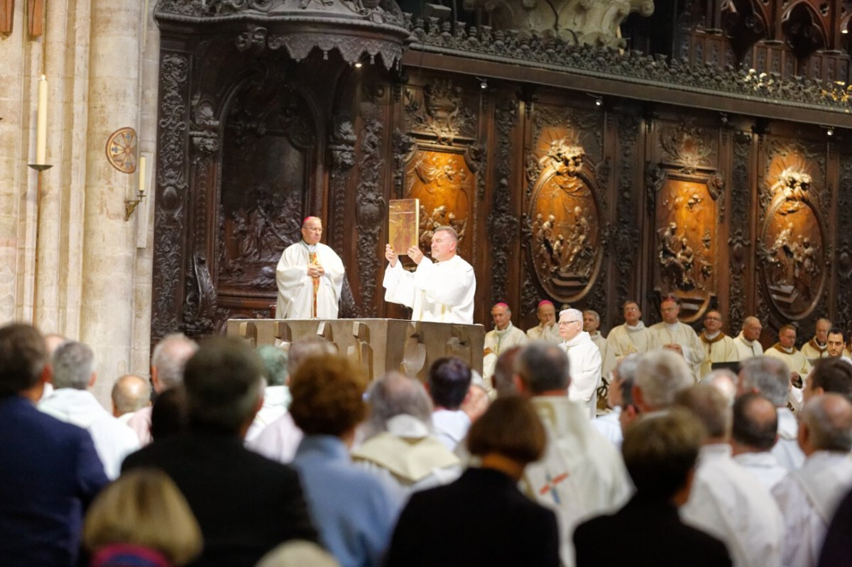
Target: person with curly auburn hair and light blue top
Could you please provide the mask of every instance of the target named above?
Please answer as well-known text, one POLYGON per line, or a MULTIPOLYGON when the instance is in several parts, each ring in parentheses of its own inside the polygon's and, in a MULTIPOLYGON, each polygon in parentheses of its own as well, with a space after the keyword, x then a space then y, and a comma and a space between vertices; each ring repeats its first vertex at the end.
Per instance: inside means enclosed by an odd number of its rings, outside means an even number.
POLYGON ((309 358, 291 377, 291 414, 304 437, 293 467, 320 540, 343 567, 378 567, 402 495, 355 467, 348 450, 366 417, 366 377, 337 355, 309 358))

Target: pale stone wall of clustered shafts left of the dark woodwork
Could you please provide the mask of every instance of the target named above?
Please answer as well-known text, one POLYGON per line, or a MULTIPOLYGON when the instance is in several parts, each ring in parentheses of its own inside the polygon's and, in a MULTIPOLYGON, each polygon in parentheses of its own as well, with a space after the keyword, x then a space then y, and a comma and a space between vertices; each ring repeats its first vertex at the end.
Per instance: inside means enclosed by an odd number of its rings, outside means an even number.
POLYGON ((48 3, 38 36, 26 4, 14 3, 12 30, 0 35, 0 321, 32 322, 92 346, 95 393, 108 407, 119 375, 149 371, 153 216, 146 200, 125 221, 137 174, 112 167, 107 139, 129 127, 133 158, 153 155, 153 3, 48 3), (42 74, 52 167, 38 174, 27 164, 35 161, 42 74))

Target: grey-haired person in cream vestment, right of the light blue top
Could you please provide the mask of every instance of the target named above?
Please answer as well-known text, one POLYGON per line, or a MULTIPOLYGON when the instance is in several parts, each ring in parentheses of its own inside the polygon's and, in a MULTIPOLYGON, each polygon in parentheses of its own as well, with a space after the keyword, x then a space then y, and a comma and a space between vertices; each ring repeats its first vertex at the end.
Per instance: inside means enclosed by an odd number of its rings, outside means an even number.
POLYGON ((420 381, 391 372, 373 382, 367 400, 366 440, 352 451, 356 464, 406 495, 458 478, 461 461, 432 434, 432 402, 420 381))

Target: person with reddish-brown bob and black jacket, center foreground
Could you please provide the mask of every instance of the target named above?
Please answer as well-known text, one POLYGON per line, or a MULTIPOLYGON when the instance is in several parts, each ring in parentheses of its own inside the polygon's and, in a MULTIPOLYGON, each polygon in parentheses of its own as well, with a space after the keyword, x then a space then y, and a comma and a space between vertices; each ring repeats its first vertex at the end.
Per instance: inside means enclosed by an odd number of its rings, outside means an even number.
POLYGON ((544 444, 544 427, 532 405, 517 396, 498 398, 467 438, 481 465, 451 484, 412 495, 396 524, 386 567, 557 567, 554 514, 517 488, 524 467, 541 457, 544 444))

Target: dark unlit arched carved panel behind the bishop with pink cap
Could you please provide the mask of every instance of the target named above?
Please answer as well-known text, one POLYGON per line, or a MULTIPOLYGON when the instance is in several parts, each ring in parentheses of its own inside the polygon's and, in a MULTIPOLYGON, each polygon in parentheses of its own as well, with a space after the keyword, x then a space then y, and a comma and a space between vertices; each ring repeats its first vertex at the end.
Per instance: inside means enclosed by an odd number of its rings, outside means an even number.
POLYGON ((281 89, 241 94, 225 123, 219 223, 219 293, 275 289, 282 250, 301 238, 310 209, 306 173, 315 126, 306 103, 281 89))

